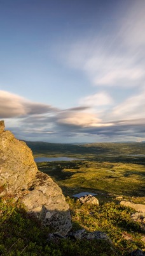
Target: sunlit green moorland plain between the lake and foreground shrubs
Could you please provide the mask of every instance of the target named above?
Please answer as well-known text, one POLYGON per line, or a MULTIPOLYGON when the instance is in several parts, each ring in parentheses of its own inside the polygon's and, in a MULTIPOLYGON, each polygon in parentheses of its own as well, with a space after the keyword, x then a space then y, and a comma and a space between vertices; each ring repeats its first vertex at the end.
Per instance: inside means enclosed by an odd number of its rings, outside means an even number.
POLYGON ((144 202, 145 168, 140 164, 98 163, 95 161, 57 161, 37 163, 62 188, 64 195, 83 191, 97 193, 100 201, 125 196, 144 202), (132 198, 134 196, 134 198, 132 198))

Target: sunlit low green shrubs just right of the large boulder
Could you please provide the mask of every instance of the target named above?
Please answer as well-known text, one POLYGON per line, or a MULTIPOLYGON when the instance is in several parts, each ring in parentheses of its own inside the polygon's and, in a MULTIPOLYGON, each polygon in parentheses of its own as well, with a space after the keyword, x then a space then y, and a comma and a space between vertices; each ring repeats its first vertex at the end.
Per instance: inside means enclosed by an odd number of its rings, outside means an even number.
POLYGON ((78 200, 71 198, 67 200, 74 228, 78 229, 78 226, 81 225, 90 232, 95 230, 106 232, 120 255, 122 252, 123 255, 126 255, 136 248, 143 248, 143 230, 141 230, 141 223, 130 218, 134 212, 132 209, 116 205, 114 202, 100 205, 97 208, 95 205, 82 205, 78 200))

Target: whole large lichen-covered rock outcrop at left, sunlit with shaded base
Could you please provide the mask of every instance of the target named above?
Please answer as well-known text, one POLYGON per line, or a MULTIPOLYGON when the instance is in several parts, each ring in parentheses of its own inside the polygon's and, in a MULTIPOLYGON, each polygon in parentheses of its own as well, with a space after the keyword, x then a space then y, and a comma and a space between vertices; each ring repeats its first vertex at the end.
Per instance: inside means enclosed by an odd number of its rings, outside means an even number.
POLYGON ((20 198, 27 211, 53 232, 66 235, 71 215, 62 190, 46 174, 38 171, 31 149, 0 122, 0 191, 20 198))

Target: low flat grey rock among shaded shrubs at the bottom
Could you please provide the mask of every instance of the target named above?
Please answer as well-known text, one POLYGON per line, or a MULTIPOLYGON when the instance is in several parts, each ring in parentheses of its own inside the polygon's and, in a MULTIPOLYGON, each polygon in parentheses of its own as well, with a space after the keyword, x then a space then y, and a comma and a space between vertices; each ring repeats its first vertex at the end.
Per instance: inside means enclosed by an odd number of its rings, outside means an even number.
POLYGON ((92 240, 92 239, 103 239, 108 241, 109 243, 111 242, 111 239, 106 235, 106 233, 101 232, 101 231, 94 231, 94 232, 87 232, 85 229, 77 230, 76 232, 70 232, 68 235, 72 239, 80 240, 80 239, 87 239, 87 240, 92 240))

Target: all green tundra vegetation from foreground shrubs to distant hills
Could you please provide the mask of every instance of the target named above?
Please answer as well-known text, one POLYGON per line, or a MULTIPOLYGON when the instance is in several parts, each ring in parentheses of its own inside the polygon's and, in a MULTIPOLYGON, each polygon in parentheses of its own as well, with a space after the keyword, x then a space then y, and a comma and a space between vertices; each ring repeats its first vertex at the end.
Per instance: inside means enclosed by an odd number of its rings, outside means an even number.
MULTIPOLYGON (((142 223, 132 220, 133 209, 120 204, 123 200, 144 204, 145 143, 95 143, 64 145, 31 143, 34 157, 77 157, 85 160, 37 163, 62 188, 69 203, 72 230, 85 228, 106 232, 112 244, 103 240, 57 239, 50 241, 53 230, 41 227, 29 216, 20 202, 9 195, 1 198, 1 256, 88 256, 128 255, 144 248, 142 223), (135 155, 135 156, 134 156, 135 155), (139 155, 139 156, 136 156, 139 155), (72 195, 96 193, 99 207, 83 205, 72 195)), ((3 190, 3 188, 1 188, 3 190)))

